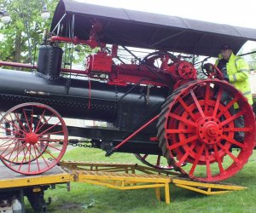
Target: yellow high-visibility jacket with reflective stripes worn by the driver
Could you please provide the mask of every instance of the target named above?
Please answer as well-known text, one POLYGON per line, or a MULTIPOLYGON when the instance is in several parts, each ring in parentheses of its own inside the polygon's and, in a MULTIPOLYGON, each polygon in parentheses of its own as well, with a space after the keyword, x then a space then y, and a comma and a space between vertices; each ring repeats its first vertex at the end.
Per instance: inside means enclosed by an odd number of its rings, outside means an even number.
MULTIPOLYGON (((221 58, 222 57, 219 57, 219 60, 221 58)), ((218 60, 215 64, 218 66, 218 60)), ((250 105, 253 105, 253 96, 249 82, 250 69, 247 62, 241 57, 232 53, 229 61, 226 64, 226 68, 230 83, 232 83, 236 89, 241 91, 241 93, 247 98, 250 105)), ((238 108, 236 104, 234 107, 238 108)))

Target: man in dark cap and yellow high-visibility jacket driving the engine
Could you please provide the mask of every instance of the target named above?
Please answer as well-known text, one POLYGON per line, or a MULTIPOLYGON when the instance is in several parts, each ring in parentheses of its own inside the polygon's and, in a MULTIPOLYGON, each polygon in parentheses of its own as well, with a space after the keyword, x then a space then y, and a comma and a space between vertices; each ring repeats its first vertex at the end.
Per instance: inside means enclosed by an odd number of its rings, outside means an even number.
MULTIPOLYGON (((223 44, 220 48, 219 58, 216 61, 216 66, 223 73, 224 80, 233 84, 236 89, 247 98, 250 105, 253 105, 253 96, 249 82, 249 66, 241 57, 234 55, 229 44, 223 44)), ((237 104, 234 105, 235 112, 239 111, 237 104)), ((243 127, 243 117, 235 120, 236 127, 243 127)), ((243 141, 244 132, 236 132, 235 140, 243 141)))

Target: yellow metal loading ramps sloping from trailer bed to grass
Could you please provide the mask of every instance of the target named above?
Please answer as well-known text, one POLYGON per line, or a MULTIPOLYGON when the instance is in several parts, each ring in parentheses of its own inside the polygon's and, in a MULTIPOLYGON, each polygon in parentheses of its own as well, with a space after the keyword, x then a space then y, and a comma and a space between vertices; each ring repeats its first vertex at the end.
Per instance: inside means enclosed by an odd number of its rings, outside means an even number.
POLYGON ((229 193, 246 187, 225 183, 207 183, 191 181, 179 173, 157 170, 138 164, 113 164, 62 161, 61 166, 71 171, 73 181, 86 182, 120 190, 155 188, 155 195, 160 200, 160 188, 165 189, 166 204, 170 204, 170 184, 207 195, 229 193))

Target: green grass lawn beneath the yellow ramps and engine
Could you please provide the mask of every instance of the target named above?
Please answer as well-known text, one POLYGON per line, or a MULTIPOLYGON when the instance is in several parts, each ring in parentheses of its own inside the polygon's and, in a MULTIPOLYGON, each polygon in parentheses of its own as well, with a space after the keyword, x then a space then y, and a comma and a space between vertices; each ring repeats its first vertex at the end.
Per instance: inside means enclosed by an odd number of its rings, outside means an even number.
MULTIPOLYGON (((133 154, 114 153, 106 158, 104 152, 93 148, 74 148, 67 151, 63 159, 123 162, 141 164, 133 154)), ((246 166, 225 182, 247 187, 246 190, 207 196, 171 185, 171 204, 159 202, 154 189, 120 191, 108 187, 94 186, 85 183, 71 183, 71 191, 66 185, 59 185, 55 190, 47 190, 45 199, 52 198, 49 212, 256 212, 256 151, 246 166), (86 206, 93 203, 89 209, 86 206)), ((164 194, 163 190, 161 193, 164 194)), ((32 212, 26 204, 26 212, 32 212)))

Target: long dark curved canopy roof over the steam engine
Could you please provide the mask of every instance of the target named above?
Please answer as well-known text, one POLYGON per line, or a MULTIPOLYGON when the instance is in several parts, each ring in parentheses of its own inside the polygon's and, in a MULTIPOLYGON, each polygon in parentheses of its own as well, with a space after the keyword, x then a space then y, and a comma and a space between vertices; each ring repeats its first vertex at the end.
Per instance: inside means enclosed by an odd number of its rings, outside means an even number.
POLYGON ((236 54, 248 40, 256 41, 256 29, 71 0, 61 0, 58 3, 51 32, 59 36, 76 36, 87 40, 94 20, 102 23, 102 32, 98 36, 104 43, 189 55, 217 56, 223 43, 229 43, 236 54), (66 15, 63 18, 64 14, 66 15), (58 23, 61 25, 56 27, 58 23), (73 26, 73 33, 70 26, 73 26))

